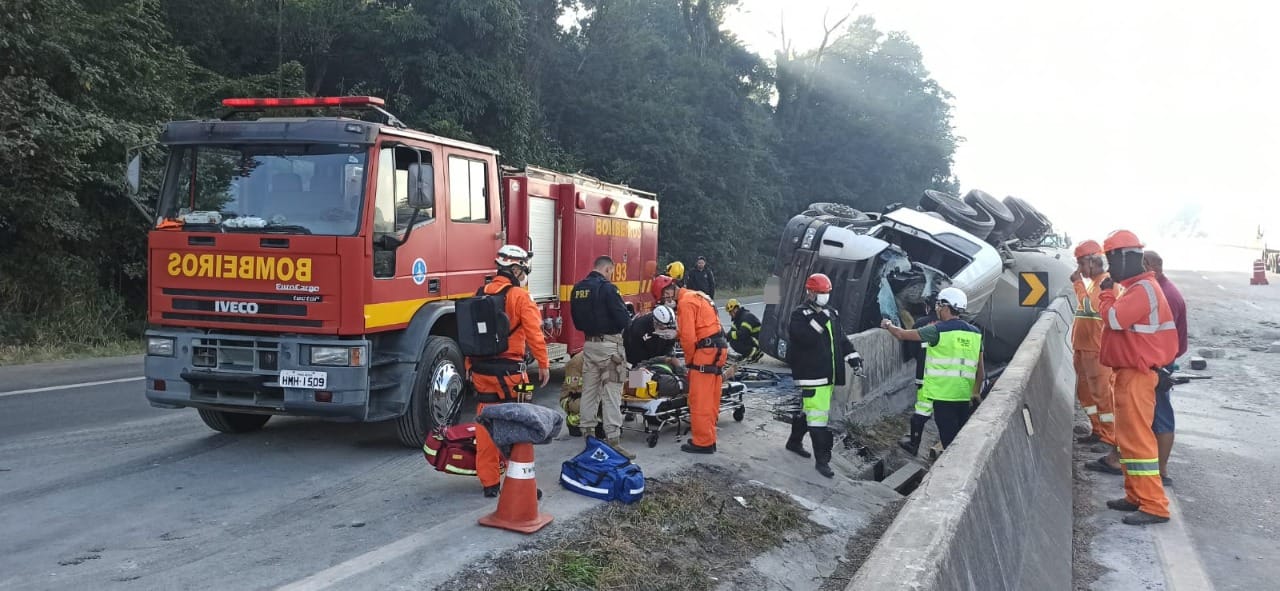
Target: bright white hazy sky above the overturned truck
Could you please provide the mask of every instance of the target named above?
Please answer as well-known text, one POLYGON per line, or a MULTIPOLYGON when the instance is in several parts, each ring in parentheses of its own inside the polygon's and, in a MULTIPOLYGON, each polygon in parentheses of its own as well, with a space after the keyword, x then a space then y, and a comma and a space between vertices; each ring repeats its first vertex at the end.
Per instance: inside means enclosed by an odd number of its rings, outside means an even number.
MULTIPOLYGON (((727 28, 767 58, 786 18, 799 47, 852 3, 742 0, 727 28)), ((951 93, 964 191, 1015 194, 1073 239, 1158 234, 1199 206, 1212 237, 1275 219, 1280 242, 1280 6, 861 0, 904 31, 951 93)))

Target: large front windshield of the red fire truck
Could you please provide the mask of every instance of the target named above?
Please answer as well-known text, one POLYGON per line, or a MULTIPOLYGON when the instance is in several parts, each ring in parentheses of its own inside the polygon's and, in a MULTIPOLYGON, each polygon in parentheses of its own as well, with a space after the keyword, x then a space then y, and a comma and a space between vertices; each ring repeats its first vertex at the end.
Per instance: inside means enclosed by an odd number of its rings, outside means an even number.
POLYGON ((348 145, 175 146, 157 226, 351 235, 366 151, 348 145))

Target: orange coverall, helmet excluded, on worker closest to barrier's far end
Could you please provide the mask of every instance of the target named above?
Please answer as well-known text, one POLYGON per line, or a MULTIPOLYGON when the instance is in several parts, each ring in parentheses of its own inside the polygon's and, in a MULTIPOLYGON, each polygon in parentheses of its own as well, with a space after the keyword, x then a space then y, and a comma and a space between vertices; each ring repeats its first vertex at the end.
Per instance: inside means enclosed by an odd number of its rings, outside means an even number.
POLYGON ((1115 445, 1115 395, 1111 390, 1111 368, 1098 362, 1102 349, 1102 316, 1098 313, 1098 287, 1110 275, 1076 280, 1075 322, 1071 326, 1071 348, 1075 349, 1075 395, 1089 416, 1093 432, 1102 443, 1115 445))

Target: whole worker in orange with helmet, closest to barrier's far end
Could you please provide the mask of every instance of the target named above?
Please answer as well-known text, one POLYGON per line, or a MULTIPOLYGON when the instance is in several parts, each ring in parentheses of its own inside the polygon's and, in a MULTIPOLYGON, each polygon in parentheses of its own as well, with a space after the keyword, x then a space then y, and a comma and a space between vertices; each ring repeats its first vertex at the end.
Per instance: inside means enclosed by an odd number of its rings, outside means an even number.
POLYGON ((1102 280, 1108 275, 1102 246, 1084 240, 1075 247, 1076 270, 1071 274, 1075 288, 1075 321, 1071 326, 1071 348, 1075 351, 1075 395, 1080 408, 1089 416, 1093 431, 1082 434, 1079 443, 1115 445, 1115 400, 1111 393, 1111 368, 1098 363, 1102 348, 1102 316, 1098 315, 1098 296, 1102 280))

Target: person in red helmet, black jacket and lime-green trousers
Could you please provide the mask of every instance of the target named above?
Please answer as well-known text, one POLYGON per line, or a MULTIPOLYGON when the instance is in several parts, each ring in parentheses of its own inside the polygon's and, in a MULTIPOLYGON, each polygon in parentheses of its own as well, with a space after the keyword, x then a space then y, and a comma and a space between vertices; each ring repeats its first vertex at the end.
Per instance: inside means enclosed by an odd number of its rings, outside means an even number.
POLYGON ((791 436, 786 449, 810 457, 804 449, 804 436, 813 443, 814 469, 831 478, 831 449, 836 436, 831 432, 831 395, 836 386, 845 385, 844 359, 854 371, 860 371, 863 358, 845 336, 840 313, 831 307, 831 278, 820 272, 809 275, 804 283, 805 299, 791 311, 787 325, 787 365, 791 377, 800 388, 801 414, 791 420, 791 436))

